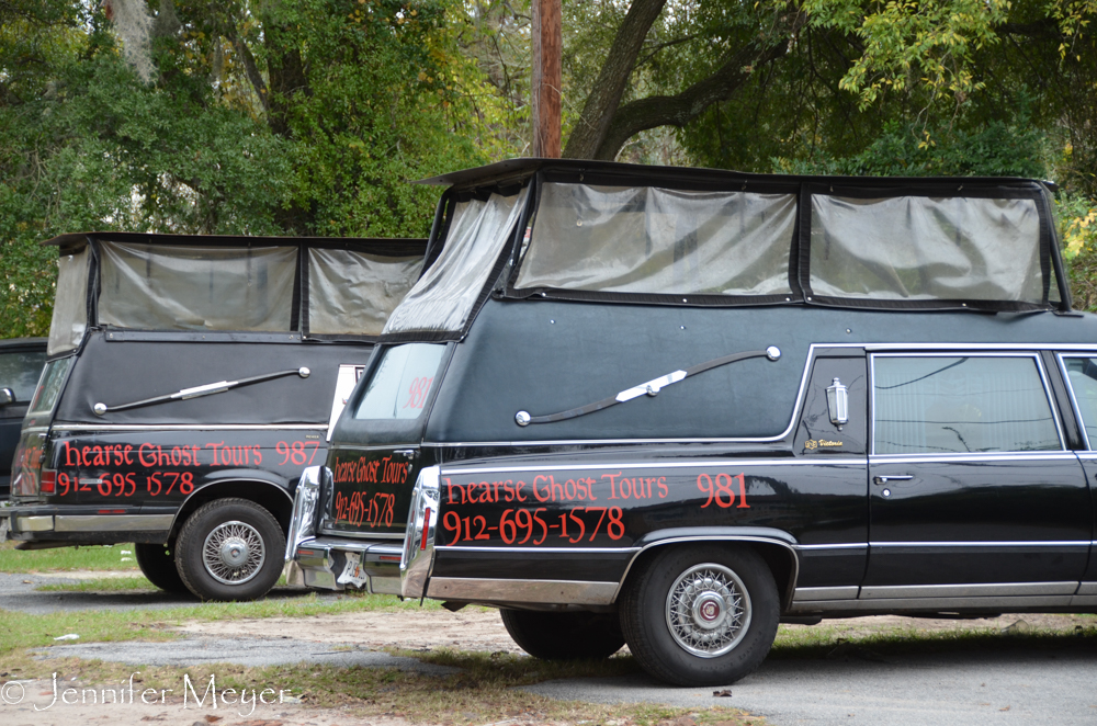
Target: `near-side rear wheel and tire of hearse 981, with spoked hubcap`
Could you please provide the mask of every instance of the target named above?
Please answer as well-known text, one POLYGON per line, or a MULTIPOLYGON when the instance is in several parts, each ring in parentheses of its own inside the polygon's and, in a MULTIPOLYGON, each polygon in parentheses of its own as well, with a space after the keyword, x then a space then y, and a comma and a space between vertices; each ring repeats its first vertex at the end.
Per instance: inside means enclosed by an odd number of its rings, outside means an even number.
POLYGON ((678 685, 726 685, 753 672, 779 620, 773 575, 746 548, 668 548, 621 600, 629 649, 648 673, 678 685))

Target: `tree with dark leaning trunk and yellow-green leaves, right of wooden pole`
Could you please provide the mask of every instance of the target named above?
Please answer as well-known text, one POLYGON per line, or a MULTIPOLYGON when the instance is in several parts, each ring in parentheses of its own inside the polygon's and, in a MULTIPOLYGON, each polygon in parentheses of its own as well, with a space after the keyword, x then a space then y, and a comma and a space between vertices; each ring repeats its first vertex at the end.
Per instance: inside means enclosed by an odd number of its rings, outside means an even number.
MULTIPOLYGON (((776 139, 770 151, 785 156, 818 147, 850 151, 879 135, 881 117, 943 127, 970 116, 975 127, 1010 97, 1028 93, 1029 118, 1049 131, 1065 128, 1075 155, 1089 159, 1097 150, 1094 116, 1086 115, 1097 80, 1095 16, 1095 0, 694 0, 669 8, 665 0, 635 0, 623 14, 600 3, 586 25, 612 22, 614 31, 597 46, 597 75, 572 89, 584 101, 565 156, 612 159, 645 129, 689 129, 708 117, 719 144, 737 149, 731 157, 758 168, 774 156, 751 156, 747 147, 759 138, 776 139), (1052 67, 1066 77, 1053 78, 1052 67), (1003 82, 1007 93, 999 92, 1003 82), (780 118, 780 107, 795 109, 796 123, 780 118), (743 133, 770 120, 771 128, 743 133)), ((575 57, 589 56, 591 44, 581 37, 579 44, 575 57)), ((695 136, 712 146, 712 134, 695 136)))

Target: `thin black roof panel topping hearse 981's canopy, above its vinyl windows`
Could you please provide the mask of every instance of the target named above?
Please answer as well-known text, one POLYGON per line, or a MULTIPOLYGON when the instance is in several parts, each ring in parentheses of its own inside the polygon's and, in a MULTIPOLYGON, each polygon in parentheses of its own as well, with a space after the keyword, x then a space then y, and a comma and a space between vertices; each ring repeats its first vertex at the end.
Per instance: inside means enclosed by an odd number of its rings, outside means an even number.
POLYGON ((618 178, 620 182, 630 185, 658 185, 679 183, 701 183, 726 185, 735 182, 753 181, 769 184, 840 184, 842 186, 873 186, 880 189, 912 186, 951 186, 957 184, 972 186, 1030 186, 1041 184, 1054 189, 1048 181, 1020 179, 1016 177, 824 177, 800 174, 757 174, 726 169, 698 169, 691 167, 656 167, 617 161, 595 161, 590 159, 506 159, 484 167, 452 171, 430 179, 423 179, 417 184, 451 185, 455 188, 475 188, 508 182, 524 182, 533 174, 545 172, 584 173, 589 172, 602 181, 607 177, 618 178))

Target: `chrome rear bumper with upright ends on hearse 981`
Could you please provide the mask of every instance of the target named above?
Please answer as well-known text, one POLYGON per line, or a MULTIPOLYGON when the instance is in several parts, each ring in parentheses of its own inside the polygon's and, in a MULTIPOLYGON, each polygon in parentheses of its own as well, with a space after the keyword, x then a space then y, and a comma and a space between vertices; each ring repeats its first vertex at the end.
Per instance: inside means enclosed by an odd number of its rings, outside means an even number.
POLYGON ((434 560, 438 467, 423 469, 416 480, 403 545, 318 536, 320 502, 331 485, 331 470, 321 466, 305 469, 297 484, 285 552, 290 585, 329 590, 350 586, 377 594, 421 598, 434 560))

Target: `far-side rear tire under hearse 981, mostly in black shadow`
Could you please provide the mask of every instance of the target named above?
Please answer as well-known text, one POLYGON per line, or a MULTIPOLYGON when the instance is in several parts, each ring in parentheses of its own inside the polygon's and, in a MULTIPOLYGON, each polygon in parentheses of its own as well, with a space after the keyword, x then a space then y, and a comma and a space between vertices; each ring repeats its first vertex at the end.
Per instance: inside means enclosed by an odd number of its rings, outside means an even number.
POLYGON ((617 615, 500 610, 510 637, 542 660, 609 658, 624 645, 617 615))

